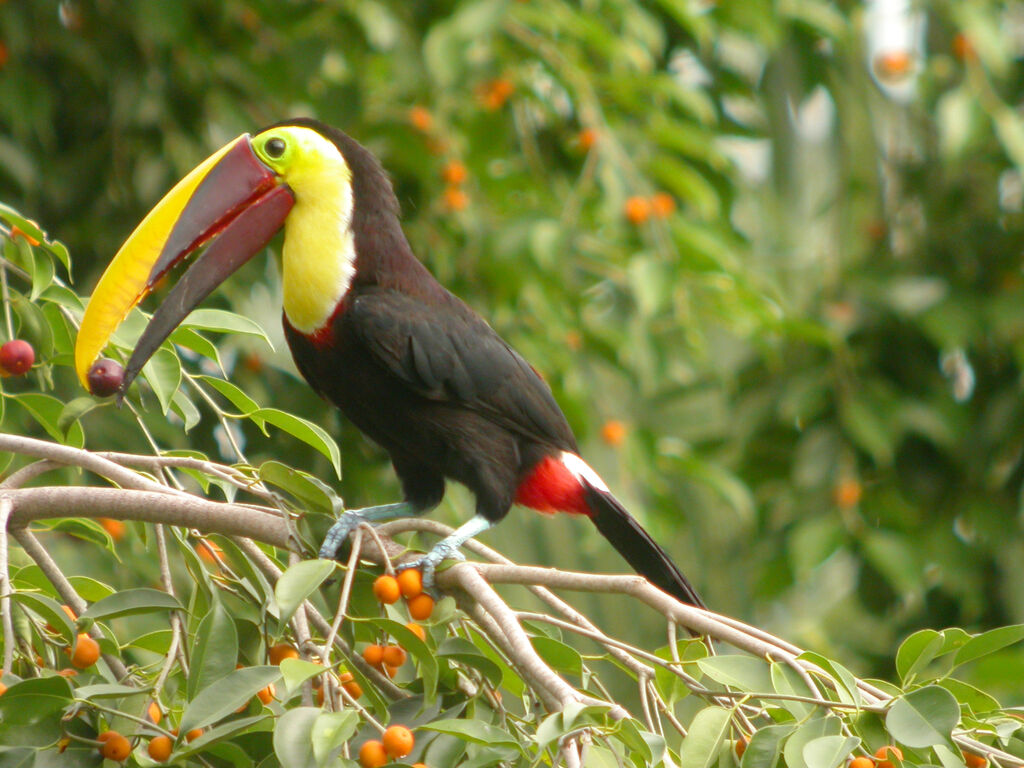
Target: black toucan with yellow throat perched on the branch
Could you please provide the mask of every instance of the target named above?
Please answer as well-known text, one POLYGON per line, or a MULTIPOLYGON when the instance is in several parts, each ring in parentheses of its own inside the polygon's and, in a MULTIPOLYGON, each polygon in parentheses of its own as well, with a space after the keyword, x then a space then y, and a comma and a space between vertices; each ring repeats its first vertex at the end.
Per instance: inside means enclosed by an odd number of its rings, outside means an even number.
POLYGON ((321 549, 335 557, 360 522, 436 507, 445 479, 476 514, 419 563, 425 582, 468 539, 520 504, 569 512, 652 584, 703 603, 580 457, 537 371, 416 258, 377 159, 344 132, 300 118, 243 134, 178 182, 128 238, 86 307, 75 351, 90 369, 167 272, 202 250, 157 306, 125 367, 120 394, 214 288, 284 228, 284 326, 299 372, 391 459, 403 500, 345 510, 321 549))

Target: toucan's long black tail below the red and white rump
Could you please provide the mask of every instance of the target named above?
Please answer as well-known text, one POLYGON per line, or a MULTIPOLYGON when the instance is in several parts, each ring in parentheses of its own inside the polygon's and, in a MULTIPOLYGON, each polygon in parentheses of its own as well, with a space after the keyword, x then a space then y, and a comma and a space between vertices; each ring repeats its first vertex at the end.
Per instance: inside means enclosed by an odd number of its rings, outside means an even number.
POLYGON ((607 539, 633 569, 684 603, 703 608, 703 600, 682 571, 641 527, 636 518, 607 490, 583 481, 589 517, 601 536, 607 539))

